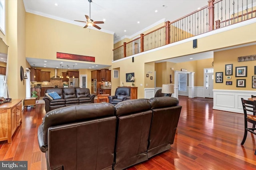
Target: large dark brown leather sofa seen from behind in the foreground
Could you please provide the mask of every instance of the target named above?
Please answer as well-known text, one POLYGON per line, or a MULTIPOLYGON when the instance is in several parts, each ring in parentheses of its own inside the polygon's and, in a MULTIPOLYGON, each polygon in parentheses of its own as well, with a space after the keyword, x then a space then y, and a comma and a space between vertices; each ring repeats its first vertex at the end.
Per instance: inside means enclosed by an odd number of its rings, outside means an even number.
POLYGON ((122 170, 168 150, 180 117, 173 97, 54 109, 38 127, 51 170, 122 170))

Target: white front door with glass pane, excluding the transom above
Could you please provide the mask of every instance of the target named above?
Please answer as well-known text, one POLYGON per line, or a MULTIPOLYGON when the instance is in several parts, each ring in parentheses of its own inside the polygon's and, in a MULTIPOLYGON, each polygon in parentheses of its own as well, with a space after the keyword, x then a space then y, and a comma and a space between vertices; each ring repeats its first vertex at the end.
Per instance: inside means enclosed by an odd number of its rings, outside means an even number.
POLYGON ((204 97, 213 98, 213 73, 204 73, 204 97))

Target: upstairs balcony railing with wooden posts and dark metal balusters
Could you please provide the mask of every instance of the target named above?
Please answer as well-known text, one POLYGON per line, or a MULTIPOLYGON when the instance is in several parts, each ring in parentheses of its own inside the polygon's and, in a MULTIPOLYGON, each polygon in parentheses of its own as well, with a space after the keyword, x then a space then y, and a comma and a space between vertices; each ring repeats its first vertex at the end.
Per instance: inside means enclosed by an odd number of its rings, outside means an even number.
POLYGON ((118 60, 186 38, 204 34, 256 17, 256 0, 209 0, 208 6, 196 10, 147 34, 140 34, 124 45, 113 49, 118 60))

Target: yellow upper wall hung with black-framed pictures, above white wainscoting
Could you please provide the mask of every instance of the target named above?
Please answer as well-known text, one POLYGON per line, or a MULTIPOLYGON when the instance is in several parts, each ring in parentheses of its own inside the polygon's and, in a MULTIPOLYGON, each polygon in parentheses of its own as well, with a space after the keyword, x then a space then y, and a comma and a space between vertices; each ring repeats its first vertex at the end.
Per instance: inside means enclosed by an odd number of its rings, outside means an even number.
MULTIPOLYGON (((216 72, 223 72, 224 74, 223 83, 214 83, 214 89, 255 90, 252 88, 252 76, 254 75, 256 60, 238 62, 238 57, 255 54, 256 45, 214 52, 214 75, 216 72), (233 75, 231 75, 231 79, 227 79, 227 76, 225 76, 226 64, 233 64, 233 75), (247 77, 236 77, 236 67, 242 66, 247 66, 247 77), (236 87, 237 79, 246 79, 246 87, 236 87), (232 85, 226 85, 226 81, 232 81, 232 85)), ((214 76, 214 82, 215 78, 214 76)))

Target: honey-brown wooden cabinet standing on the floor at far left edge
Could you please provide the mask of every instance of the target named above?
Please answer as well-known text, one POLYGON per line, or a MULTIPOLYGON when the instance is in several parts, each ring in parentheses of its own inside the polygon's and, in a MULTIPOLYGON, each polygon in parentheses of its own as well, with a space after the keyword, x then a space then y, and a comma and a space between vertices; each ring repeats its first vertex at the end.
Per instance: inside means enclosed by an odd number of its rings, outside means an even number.
POLYGON ((12 99, 0 105, 0 141, 12 143, 12 135, 21 122, 21 99, 12 99))

